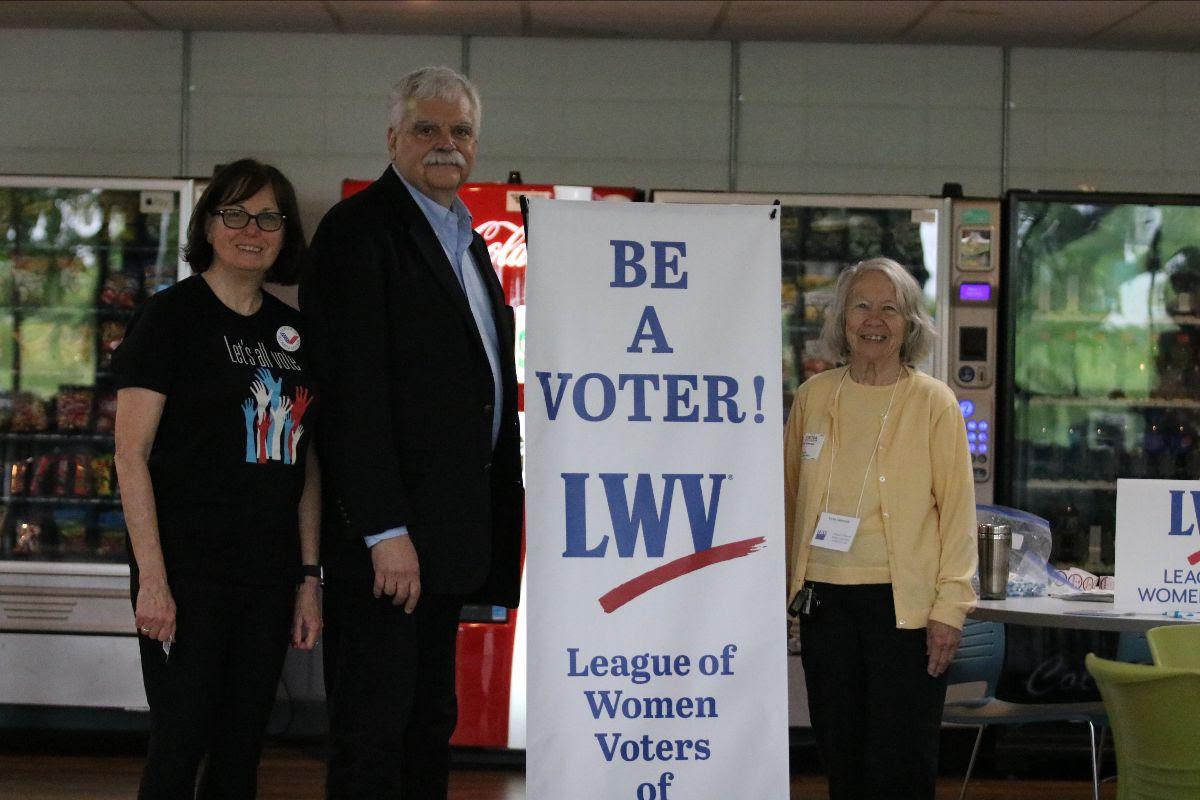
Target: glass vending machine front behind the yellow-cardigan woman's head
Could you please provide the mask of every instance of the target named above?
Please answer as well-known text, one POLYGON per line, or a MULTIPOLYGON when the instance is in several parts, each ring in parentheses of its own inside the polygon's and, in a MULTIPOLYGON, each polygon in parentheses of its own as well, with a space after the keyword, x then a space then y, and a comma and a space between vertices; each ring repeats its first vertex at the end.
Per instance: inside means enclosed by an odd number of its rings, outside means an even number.
MULTIPOLYGON (((947 201, 919 197, 787 196, 764 193, 654 192, 655 203, 780 204, 780 314, 784 337, 784 414, 796 389, 835 366, 820 347, 834 283, 847 266, 884 255, 902 264, 922 285, 935 324, 946 317, 947 201)), ((944 378, 944 349, 919 365, 944 378)))

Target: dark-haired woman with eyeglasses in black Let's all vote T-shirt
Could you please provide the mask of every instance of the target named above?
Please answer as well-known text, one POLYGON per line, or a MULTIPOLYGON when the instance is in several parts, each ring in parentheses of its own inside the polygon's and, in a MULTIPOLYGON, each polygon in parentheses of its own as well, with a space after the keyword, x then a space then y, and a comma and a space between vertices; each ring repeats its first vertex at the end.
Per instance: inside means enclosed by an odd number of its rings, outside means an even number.
POLYGON ((187 230, 196 275, 145 302, 113 359, 142 800, 253 798, 288 642, 320 633, 314 387, 299 312, 263 291, 295 281, 304 248, 280 170, 221 168, 187 230))

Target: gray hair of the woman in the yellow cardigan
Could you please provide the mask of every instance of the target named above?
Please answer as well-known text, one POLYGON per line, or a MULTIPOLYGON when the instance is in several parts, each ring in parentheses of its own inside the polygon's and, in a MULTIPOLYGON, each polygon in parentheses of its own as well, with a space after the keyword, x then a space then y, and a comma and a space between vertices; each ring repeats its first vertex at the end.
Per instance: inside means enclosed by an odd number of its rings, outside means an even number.
POLYGON ((846 303, 850 301, 850 290, 854 281, 865 272, 882 272, 895 287, 900 315, 906 323, 904 342, 900 344, 900 361, 907 365, 918 363, 934 349, 937 329, 925 311, 925 296, 917 279, 890 258, 869 258, 842 270, 838 276, 833 303, 826 312, 821 344, 828 355, 838 361, 845 361, 850 355, 850 342, 846 339, 846 303))

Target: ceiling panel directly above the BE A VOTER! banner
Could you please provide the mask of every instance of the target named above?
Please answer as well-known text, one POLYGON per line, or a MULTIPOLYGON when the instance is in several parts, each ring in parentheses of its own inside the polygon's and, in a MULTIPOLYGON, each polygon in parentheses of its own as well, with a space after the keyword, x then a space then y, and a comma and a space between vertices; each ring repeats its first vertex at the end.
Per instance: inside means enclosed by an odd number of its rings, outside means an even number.
POLYGON ((720 0, 530 0, 535 36, 707 38, 725 5, 720 0))

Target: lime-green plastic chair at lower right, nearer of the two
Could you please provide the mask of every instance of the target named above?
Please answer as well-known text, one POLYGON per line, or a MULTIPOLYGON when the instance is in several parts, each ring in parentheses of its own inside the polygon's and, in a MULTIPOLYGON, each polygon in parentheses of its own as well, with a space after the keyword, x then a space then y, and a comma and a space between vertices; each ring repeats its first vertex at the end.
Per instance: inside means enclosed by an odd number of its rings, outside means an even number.
POLYGON ((1200 670, 1127 664, 1096 654, 1086 663, 1109 711, 1117 800, 1200 798, 1200 670))

